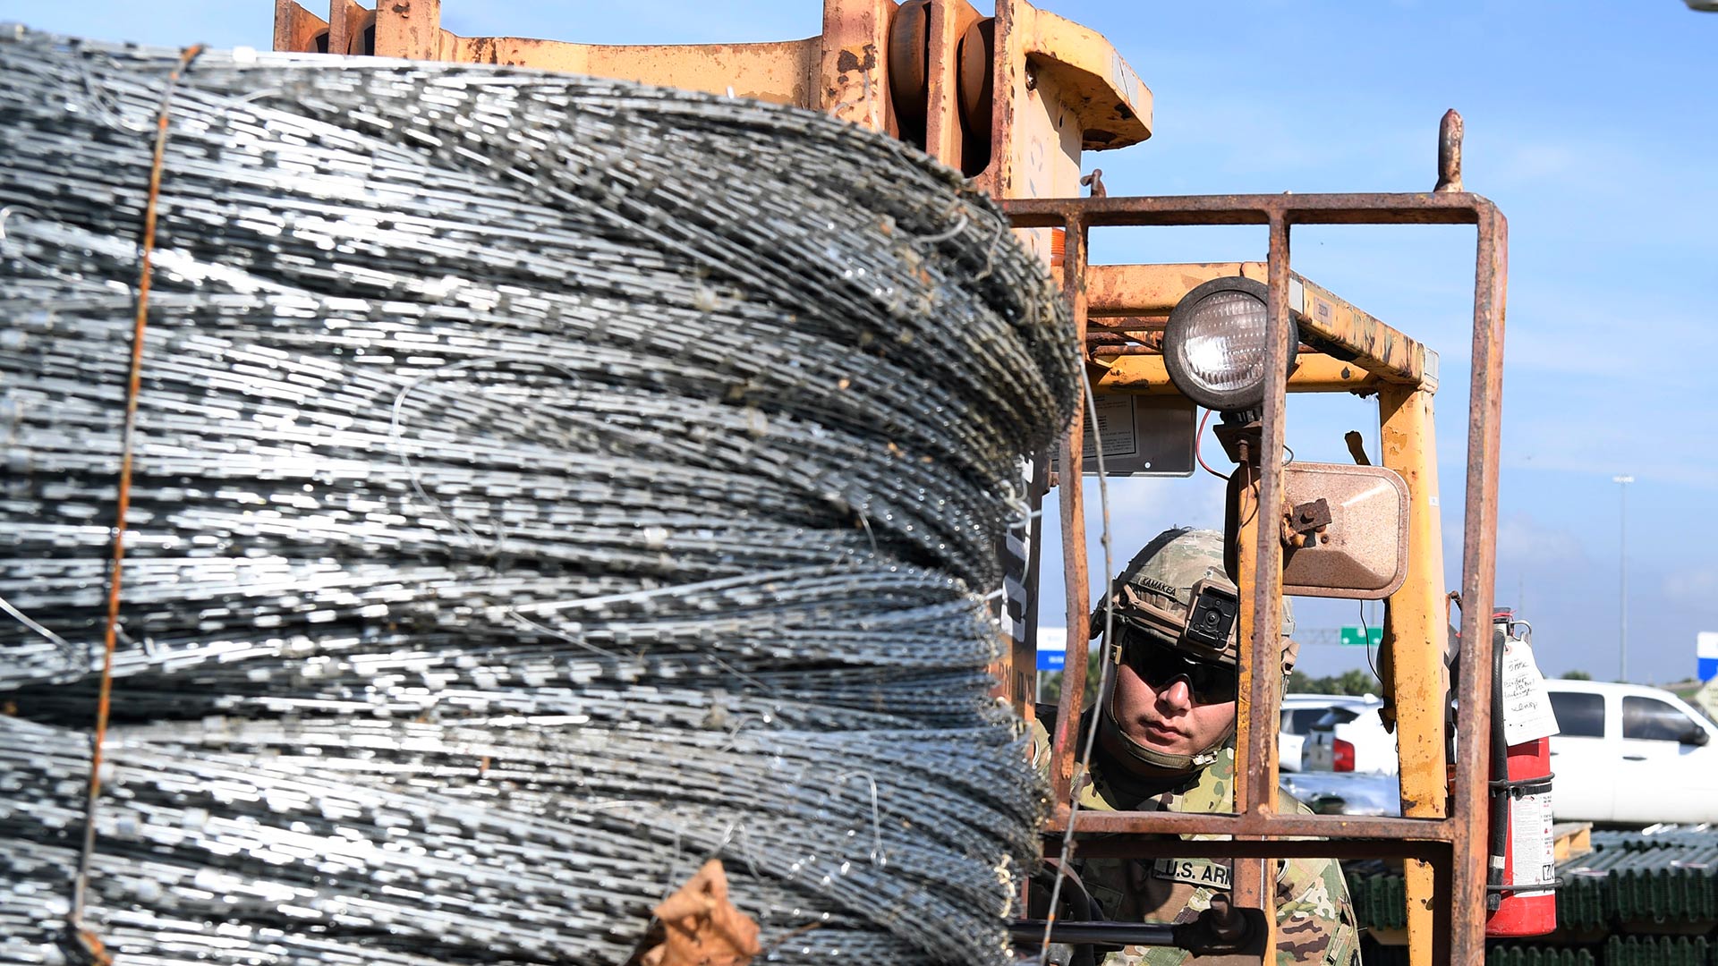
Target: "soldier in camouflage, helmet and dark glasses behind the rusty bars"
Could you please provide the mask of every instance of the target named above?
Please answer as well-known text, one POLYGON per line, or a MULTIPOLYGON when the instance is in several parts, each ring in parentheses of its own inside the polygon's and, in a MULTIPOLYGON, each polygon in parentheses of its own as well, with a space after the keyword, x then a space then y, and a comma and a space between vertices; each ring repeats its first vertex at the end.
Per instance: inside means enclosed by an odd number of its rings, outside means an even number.
MULTIPOLYGON (((1100 696, 1098 748, 1081 808, 1105 811, 1232 811, 1239 596, 1223 571, 1223 535, 1170 529, 1117 578, 1110 686, 1100 696)), ((1093 621, 1103 633, 1103 610, 1093 621)), ((1294 665, 1294 627, 1283 605, 1283 663, 1294 665)), ((1034 755, 1050 767, 1039 708, 1034 755)), ((1045 715, 1043 712, 1048 712, 1045 715)), ((1086 734, 1082 727, 1079 734, 1086 734)), ((1283 796, 1301 811, 1299 801, 1283 796)), ((1276 863, 1276 963, 1359 963, 1349 887, 1333 859, 1276 863)), ((1075 873, 1110 920, 1192 921, 1215 892, 1230 890, 1230 863, 1215 859, 1084 859, 1075 873)), ((1105 966, 1179 964, 1170 947, 1127 947, 1105 966)))

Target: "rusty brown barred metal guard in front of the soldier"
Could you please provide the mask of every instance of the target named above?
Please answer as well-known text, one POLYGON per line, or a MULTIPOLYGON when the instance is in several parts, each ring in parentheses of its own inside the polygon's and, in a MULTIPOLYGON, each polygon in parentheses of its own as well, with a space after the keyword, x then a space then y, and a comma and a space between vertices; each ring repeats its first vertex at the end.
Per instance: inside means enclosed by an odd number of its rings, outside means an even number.
MULTIPOLYGON (((1450 167, 1448 163, 1445 165, 1450 167)), ((1191 198, 1086 198, 1010 199, 1003 210, 1015 229, 1063 229, 1063 290, 1075 330, 1087 335, 1087 234, 1094 227, 1127 225, 1266 225, 1270 230, 1268 316, 1275 339, 1266 352, 1266 397, 1263 407, 1263 459, 1259 505, 1282 502, 1282 442, 1285 418, 1287 352, 1294 333, 1288 309, 1288 237, 1294 225, 1476 225, 1472 378, 1469 383, 1467 492, 1462 533, 1462 639, 1490 639, 1495 579, 1498 430, 1503 376, 1503 306, 1508 275, 1508 223, 1496 206, 1460 191, 1459 177, 1445 179, 1433 194, 1237 194, 1191 198)), ((1313 320, 1318 325, 1319 320, 1313 320)), ((1304 325, 1304 323, 1302 323, 1304 325)), ((1347 320, 1342 345, 1361 351, 1380 366, 1402 366, 1400 352, 1385 345, 1383 323, 1369 316, 1347 320)), ((1392 330, 1393 332, 1393 330, 1392 330)), ((1371 368, 1371 366, 1369 366, 1371 368)), ((1409 380, 1400 380, 1409 382, 1409 380)), ((1079 480, 1082 468, 1084 418, 1075 418, 1060 461, 1063 480, 1079 480)), ((1087 648, 1089 588, 1086 572, 1086 514, 1081 486, 1060 486, 1063 559, 1067 569, 1067 650, 1087 648)), ((1237 813, 1187 815, 1168 811, 1081 811, 1077 832, 1129 834, 1112 839, 1106 851, 1136 856, 1203 854, 1239 856, 1235 901, 1244 906, 1270 902, 1263 885, 1263 859, 1297 854, 1380 856, 1429 863, 1433 892, 1443 897, 1435 911, 1433 956, 1443 963, 1477 963, 1484 957, 1484 854, 1486 743, 1460 743, 1455 760, 1452 813, 1447 818, 1369 818, 1333 815, 1280 815, 1275 810, 1275 746, 1270 729, 1247 727, 1249 720, 1275 720, 1276 689, 1270 676, 1252 667, 1273 667, 1278 650, 1278 600, 1282 588, 1282 545, 1273 528, 1252 528, 1252 593, 1242 614, 1247 641, 1242 662, 1242 694, 1237 701, 1237 813), (1249 619, 1249 612, 1259 619, 1249 619), (1263 713, 1261 713, 1263 712, 1263 713), (1151 835, 1227 834, 1234 841, 1153 841, 1151 835), (1292 842, 1285 837, 1321 837, 1292 842), (1264 896, 1261 896, 1261 890, 1264 896), (1251 902, 1249 902, 1251 899, 1251 902)), ((1246 567, 1244 567, 1246 569, 1246 567)), ((1491 665, 1484 648, 1462 648, 1457 693, 1457 729, 1490 734, 1491 665)), ((1065 830, 1072 815, 1070 782, 1086 662, 1070 660, 1063 670, 1062 708, 1057 715, 1051 786, 1055 811, 1050 827, 1065 830)), ((1096 854, 1087 851, 1086 854, 1096 854)))

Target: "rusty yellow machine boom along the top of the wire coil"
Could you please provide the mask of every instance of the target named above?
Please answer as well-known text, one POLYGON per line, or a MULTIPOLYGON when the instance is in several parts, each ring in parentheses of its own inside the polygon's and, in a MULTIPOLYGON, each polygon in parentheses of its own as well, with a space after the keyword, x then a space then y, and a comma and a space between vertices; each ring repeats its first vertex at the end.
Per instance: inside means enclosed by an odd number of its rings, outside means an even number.
MULTIPOLYGON (((332 53, 357 53, 364 28, 375 24, 380 57, 732 91, 899 134, 888 81, 895 9, 895 0, 825 0, 823 33, 807 40, 632 46, 466 38, 442 29, 440 0, 380 0, 375 10, 330 0, 326 21, 292 0, 277 0, 275 50, 309 52, 326 33, 332 53)), ((1082 150, 1124 148, 1151 136, 1151 91, 1115 46, 1026 0, 996 3, 995 117, 962 119, 957 52, 979 19, 967 0, 931 0, 928 9, 926 148, 936 158, 960 167, 971 136, 991 144, 990 167, 974 179, 979 187, 1000 198, 1065 198, 1079 193, 1082 150)), ((1048 258, 1048 242, 1039 248, 1048 258)))

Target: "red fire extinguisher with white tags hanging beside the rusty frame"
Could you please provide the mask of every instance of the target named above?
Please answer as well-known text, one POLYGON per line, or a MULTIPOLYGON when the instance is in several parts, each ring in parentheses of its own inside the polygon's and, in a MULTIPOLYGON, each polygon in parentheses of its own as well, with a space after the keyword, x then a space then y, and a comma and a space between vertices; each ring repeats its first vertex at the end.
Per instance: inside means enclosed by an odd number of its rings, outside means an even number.
MULTIPOLYGON (((1505 717, 1532 705, 1538 682, 1527 646, 1532 629, 1508 610, 1493 615, 1491 813, 1486 870, 1486 935, 1544 935, 1557 930, 1557 859, 1551 837, 1550 734, 1507 744, 1505 717), (1505 650, 1512 643, 1510 660, 1505 650), (1526 662, 1526 665, 1522 665, 1526 662)), ((1543 686, 1539 688, 1543 701, 1543 686)), ((1548 708, 1539 708, 1548 713, 1548 708)), ((1529 712, 1531 713, 1531 712, 1529 712)), ((1555 718, 1553 718, 1555 731, 1555 718)))

